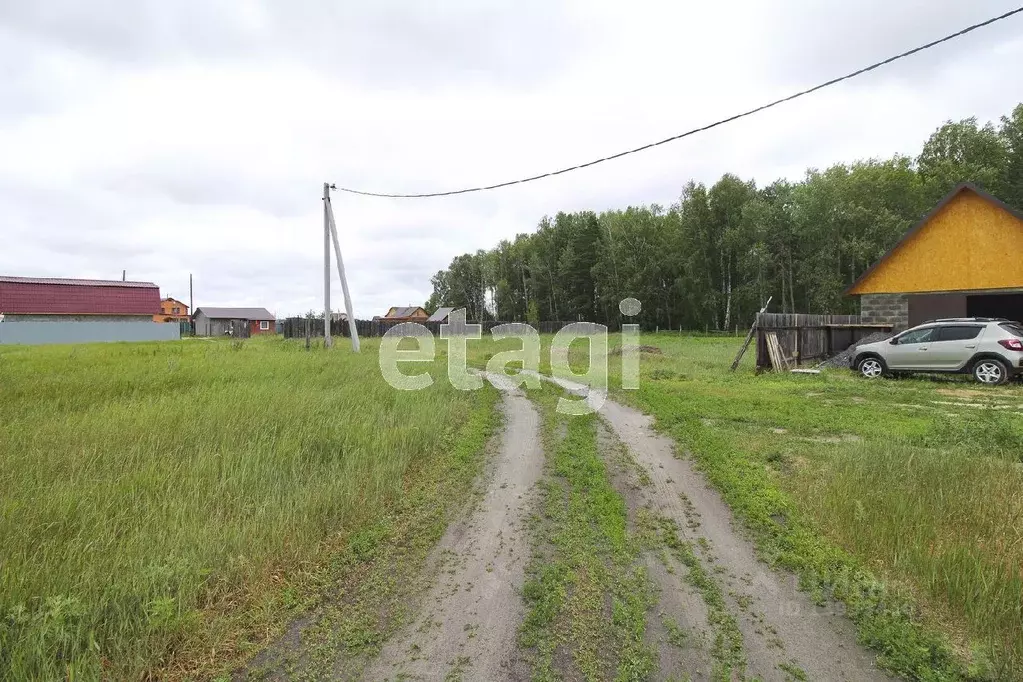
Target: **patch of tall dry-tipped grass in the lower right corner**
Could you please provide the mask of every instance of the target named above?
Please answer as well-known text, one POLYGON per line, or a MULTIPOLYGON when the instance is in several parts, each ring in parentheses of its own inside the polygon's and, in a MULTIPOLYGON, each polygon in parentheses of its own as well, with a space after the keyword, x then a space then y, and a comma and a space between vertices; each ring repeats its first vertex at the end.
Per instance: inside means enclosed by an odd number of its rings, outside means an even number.
MULTIPOLYGON (((1023 670, 1023 469, 900 445, 843 449, 803 476, 805 508, 843 547, 965 625, 1011 679, 1023 670)), ((998 670, 1000 669, 1000 670, 998 670)))

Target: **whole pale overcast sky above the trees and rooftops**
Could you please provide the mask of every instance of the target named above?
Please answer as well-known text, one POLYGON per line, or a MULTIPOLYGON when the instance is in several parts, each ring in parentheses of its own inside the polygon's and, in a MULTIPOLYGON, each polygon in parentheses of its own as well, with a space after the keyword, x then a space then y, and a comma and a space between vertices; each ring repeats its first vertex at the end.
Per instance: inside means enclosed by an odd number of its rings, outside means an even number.
MULTIPOLYGON (((0 0, 0 274, 322 310, 324 181, 422 192, 661 139, 1017 0, 0 0)), ((916 153, 1023 99, 1023 16, 752 119, 567 176, 335 211, 356 314, 558 211, 673 202, 916 153)), ((333 278, 335 308, 341 287, 333 278)))

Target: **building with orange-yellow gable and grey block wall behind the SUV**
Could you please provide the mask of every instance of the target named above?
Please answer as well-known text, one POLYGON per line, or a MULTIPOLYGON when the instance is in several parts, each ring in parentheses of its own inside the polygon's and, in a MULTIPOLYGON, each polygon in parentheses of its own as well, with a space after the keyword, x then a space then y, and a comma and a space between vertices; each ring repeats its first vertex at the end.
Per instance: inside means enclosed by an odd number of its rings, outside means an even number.
POLYGON ((864 272, 866 323, 915 326, 943 317, 1023 319, 1023 212, 971 184, 949 192, 864 272))

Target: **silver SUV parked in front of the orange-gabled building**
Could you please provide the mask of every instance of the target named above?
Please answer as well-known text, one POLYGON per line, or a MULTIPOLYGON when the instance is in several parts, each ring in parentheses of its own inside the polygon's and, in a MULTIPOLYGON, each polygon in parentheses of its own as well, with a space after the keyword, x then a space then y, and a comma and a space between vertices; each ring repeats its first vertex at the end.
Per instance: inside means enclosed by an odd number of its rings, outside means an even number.
POLYGON ((1023 324, 987 317, 932 320, 857 347, 850 366, 868 378, 958 372, 981 383, 1004 383, 1023 373, 1023 324))

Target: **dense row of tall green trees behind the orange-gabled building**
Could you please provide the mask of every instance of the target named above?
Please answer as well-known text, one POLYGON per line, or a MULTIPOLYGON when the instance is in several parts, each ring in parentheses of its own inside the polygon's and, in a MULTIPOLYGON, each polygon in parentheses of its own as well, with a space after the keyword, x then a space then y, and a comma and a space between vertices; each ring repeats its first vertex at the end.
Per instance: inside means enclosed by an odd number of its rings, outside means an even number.
MULTIPOLYGON (((726 174, 688 182, 678 201, 559 213, 532 234, 455 258, 429 310, 470 319, 618 324, 642 302, 647 327, 746 326, 767 297, 784 312, 855 312, 842 292, 957 183, 1023 208, 1023 104, 996 124, 948 122, 916 158, 894 156, 758 187, 726 174)), ((969 248, 969 244, 964 244, 969 248)))

